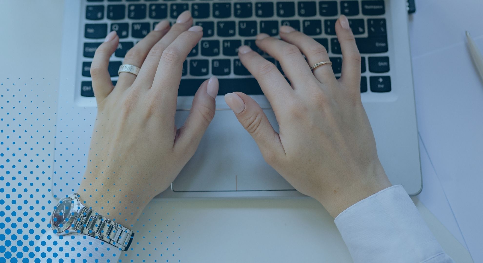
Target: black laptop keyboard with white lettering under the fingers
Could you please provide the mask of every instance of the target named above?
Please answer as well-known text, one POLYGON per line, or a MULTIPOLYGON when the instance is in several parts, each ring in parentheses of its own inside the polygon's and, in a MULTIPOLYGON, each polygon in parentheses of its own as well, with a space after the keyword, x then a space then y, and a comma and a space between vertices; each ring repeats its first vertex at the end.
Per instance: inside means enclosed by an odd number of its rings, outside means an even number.
POLYGON ((238 59, 238 47, 248 45, 282 71, 278 61, 255 45, 258 33, 278 36, 280 26, 291 26, 321 43, 329 53, 337 77, 342 66, 341 46, 335 22, 344 14, 362 56, 361 93, 391 91, 384 0, 261 1, 261 0, 84 0, 82 4, 79 66, 81 96, 94 97, 90 64, 97 47, 113 30, 119 45, 111 57, 109 73, 115 85, 123 57, 163 19, 174 23, 190 10, 194 24, 203 27, 203 38, 183 64, 178 96, 194 96, 199 85, 211 77, 220 81, 218 95, 241 91, 263 94, 258 83, 238 59))

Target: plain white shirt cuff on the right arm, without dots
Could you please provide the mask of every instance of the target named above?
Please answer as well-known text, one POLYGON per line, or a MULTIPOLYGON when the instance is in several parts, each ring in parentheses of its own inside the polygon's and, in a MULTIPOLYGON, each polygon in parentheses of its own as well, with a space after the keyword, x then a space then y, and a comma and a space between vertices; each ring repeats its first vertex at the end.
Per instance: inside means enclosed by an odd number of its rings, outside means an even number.
POLYGON ((401 185, 345 209, 335 219, 355 263, 453 263, 401 185))

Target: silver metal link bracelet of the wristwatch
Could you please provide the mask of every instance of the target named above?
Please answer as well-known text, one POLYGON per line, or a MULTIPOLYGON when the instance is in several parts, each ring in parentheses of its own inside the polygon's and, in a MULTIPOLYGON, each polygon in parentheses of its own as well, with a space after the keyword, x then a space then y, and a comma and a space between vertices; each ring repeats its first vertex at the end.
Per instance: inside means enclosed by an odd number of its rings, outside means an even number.
POLYGON ((80 233, 99 238, 123 251, 128 250, 134 233, 126 227, 107 219, 89 208, 82 208, 74 229, 80 233), (94 213, 94 215, 93 215, 94 213))

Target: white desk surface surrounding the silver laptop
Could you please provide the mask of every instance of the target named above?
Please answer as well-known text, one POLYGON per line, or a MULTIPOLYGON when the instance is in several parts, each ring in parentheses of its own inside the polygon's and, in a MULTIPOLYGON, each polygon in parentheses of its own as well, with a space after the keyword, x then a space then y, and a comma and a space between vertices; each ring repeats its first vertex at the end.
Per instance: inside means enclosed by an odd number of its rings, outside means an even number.
MULTIPOLYGON (((481 207, 483 202, 479 192, 483 169, 482 164, 477 164, 483 156, 483 87, 477 82, 463 39, 464 30, 468 29, 483 49, 483 28, 473 19, 479 17, 483 5, 476 0, 458 5, 450 0, 442 2, 417 1, 417 13, 410 23, 419 132, 426 146, 421 147, 424 187, 419 199, 427 208, 417 198, 413 197, 413 201, 443 249, 456 262, 472 262, 465 248, 475 262, 483 262, 482 211, 472 209, 481 207), (456 49, 459 53, 455 53, 456 49), (432 69, 427 68, 428 63, 432 69), (441 75, 446 71, 434 68, 438 63, 454 75, 441 75), (442 77, 444 82, 439 80, 442 77), (453 112, 449 115, 452 118, 441 116, 448 112, 453 112)), ((54 201, 51 194, 45 198, 40 195, 51 184, 47 177, 52 174, 48 165, 53 163, 62 13, 60 1, 10 0, 0 4, 0 24, 10 25, 2 28, 0 42, 0 104, 4 107, 0 117, 9 124, 0 123, 4 130, 0 138, 5 142, 3 147, 11 148, 9 154, 20 154, 23 151, 16 151, 19 144, 12 142, 14 136, 21 134, 12 134, 12 130, 21 125, 18 129, 25 127, 29 129, 27 134, 33 135, 21 140, 39 153, 28 158, 40 164, 45 175, 23 175, 28 178, 26 181, 33 182, 32 186, 25 183, 28 194, 35 193, 33 199, 41 202, 54 201), (7 116, 6 112, 12 115, 7 116), (15 115, 17 112, 23 115, 15 115), (9 134, 11 139, 6 139, 9 134)), ((0 157, 0 162, 5 163, 6 157, 0 157)), ((0 197, 12 194, 8 190, 7 187, 0 197)), ((42 210, 43 205, 32 204, 34 210, 42 212, 33 216, 35 222, 47 217, 50 209, 42 210)), ((137 262, 143 257, 153 261, 157 257, 171 262, 351 262, 332 218, 320 204, 308 198, 157 201, 145 209, 143 217, 151 221, 136 225, 140 231, 136 241, 140 245, 133 246, 134 251, 127 258, 123 256, 123 261, 132 258, 137 262), (156 238, 149 238, 153 236, 156 238), (151 245, 148 239, 152 239, 151 245)), ((40 233, 40 229, 35 231, 40 233)))

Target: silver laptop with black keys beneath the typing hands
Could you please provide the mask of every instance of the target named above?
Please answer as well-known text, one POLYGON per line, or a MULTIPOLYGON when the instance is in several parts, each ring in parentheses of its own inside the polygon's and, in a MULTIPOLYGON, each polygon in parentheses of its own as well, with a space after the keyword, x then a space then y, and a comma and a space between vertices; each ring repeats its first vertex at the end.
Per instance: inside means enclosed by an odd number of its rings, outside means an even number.
POLYGON ((256 48, 257 33, 278 36, 289 25, 313 37, 328 51, 332 69, 341 74, 342 55, 334 25, 345 14, 362 55, 361 97, 374 131, 379 158, 389 180, 408 194, 422 189, 412 86, 408 13, 404 0, 80 0, 65 1, 57 111, 53 194, 73 193, 87 162, 96 117, 90 63, 112 30, 120 37, 109 63, 115 84, 127 51, 156 23, 172 23, 185 10, 203 38, 188 55, 179 87, 175 123, 183 125, 199 84, 211 76, 220 83, 215 117, 163 198, 303 196, 263 159, 255 141, 229 109, 223 95, 242 91, 278 125, 258 83, 241 65, 237 48, 256 48), (236 151, 234 150, 236 149, 236 151))

